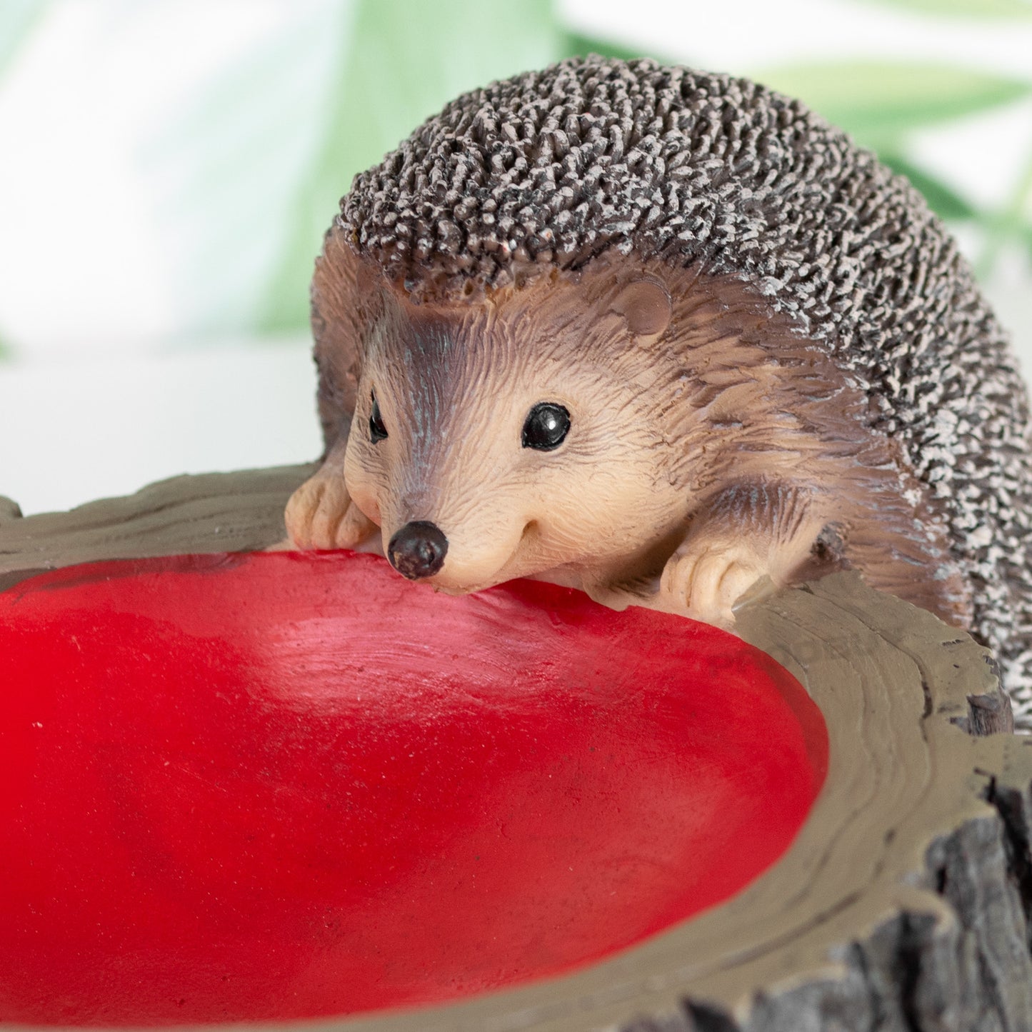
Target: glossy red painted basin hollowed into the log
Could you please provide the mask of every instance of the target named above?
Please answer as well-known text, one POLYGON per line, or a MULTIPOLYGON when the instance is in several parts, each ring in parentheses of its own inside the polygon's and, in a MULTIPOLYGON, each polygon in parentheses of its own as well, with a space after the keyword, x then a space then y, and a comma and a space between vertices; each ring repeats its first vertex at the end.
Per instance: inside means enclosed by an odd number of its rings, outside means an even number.
POLYGON ((112 562, 0 594, 0 1020, 439 1001, 727 898, 827 744, 711 627, 343 553, 112 562))

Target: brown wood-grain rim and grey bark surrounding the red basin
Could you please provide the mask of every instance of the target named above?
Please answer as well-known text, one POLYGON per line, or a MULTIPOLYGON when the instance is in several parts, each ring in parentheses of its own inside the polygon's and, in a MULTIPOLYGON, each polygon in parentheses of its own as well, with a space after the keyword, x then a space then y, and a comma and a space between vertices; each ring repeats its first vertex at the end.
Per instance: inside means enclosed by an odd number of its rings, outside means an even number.
MULTIPOLYGON (((0 585, 91 559, 272 545, 309 472, 183 477, 65 515, 0 515, 0 585)), ((728 903, 566 977, 320 1027, 1032 1028, 1032 740, 976 737, 1008 714, 988 651, 851 574, 760 600, 738 630, 799 677, 829 728, 827 784, 781 861, 728 903)))

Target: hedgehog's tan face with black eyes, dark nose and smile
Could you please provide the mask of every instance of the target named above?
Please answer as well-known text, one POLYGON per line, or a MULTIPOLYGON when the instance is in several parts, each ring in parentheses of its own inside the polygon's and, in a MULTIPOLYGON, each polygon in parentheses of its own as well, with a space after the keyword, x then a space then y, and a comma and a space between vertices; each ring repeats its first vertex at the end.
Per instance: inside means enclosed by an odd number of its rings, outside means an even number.
MULTIPOLYGON (((643 294, 655 308, 655 287, 643 294)), ((585 305, 560 281, 475 304, 385 304, 345 480, 400 573, 449 592, 563 570, 589 585, 682 527, 654 363, 636 354, 644 334, 625 302, 585 305)))

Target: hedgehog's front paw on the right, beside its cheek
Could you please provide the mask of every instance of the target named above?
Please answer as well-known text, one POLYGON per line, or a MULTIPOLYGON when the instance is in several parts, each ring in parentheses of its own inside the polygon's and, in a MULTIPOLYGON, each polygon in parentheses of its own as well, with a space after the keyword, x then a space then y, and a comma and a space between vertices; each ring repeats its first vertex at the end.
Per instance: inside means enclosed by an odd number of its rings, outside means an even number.
POLYGON ((731 627, 735 603, 769 573, 765 558, 746 544, 700 542, 682 545, 667 560, 659 591, 676 611, 731 627))

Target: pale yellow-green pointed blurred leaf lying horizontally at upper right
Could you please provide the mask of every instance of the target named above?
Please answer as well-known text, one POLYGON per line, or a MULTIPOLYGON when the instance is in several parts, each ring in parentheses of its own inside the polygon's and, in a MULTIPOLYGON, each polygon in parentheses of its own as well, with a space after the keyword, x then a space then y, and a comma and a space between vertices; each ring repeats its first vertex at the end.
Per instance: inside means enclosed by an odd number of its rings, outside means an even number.
POLYGON ((1032 84, 1021 79, 939 64, 800 64, 753 77, 798 97, 861 140, 946 122, 1032 93, 1032 84))

